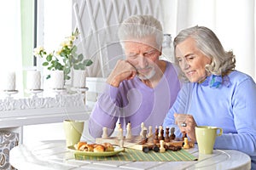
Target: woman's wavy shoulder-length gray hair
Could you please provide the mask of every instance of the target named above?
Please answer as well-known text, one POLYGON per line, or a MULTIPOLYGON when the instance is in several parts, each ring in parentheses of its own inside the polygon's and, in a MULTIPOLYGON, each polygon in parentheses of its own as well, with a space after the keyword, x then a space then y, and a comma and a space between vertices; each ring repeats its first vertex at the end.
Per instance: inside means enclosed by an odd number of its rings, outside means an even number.
MULTIPOLYGON (((211 58, 212 62, 210 65, 206 65, 206 71, 219 76, 224 75, 227 71, 235 69, 236 59, 233 52, 225 51, 215 33, 204 26, 190 27, 178 33, 177 37, 175 37, 173 41, 175 56, 176 46, 189 37, 192 37, 195 40, 196 46, 201 50, 201 53, 211 58)), ((175 58, 175 62, 178 63, 177 58, 175 58)), ((184 80, 188 80, 183 73, 181 74, 182 75, 180 76, 184 80)))

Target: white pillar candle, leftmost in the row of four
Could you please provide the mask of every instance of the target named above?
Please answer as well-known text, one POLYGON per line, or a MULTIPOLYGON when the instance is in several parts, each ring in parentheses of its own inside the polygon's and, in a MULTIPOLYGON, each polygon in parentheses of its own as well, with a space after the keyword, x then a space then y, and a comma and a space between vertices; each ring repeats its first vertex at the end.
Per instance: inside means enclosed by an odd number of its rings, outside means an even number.
POLYGON ((8 72, 6 75, 3 77, 3 90, 9 90, 13 91, 15 90, 16 86, 16 75, 14 71, 8 72))

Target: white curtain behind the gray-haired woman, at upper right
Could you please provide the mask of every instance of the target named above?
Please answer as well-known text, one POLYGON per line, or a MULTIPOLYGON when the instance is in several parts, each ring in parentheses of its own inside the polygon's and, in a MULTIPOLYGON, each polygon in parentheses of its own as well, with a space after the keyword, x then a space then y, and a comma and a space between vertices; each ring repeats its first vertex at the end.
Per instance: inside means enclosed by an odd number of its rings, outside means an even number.
POLYGON ((256 78, 254 0, 165 1, 165 31, 175 37, 190 26, 207 26, 225 50, 236 55, 236 70, 256 78))

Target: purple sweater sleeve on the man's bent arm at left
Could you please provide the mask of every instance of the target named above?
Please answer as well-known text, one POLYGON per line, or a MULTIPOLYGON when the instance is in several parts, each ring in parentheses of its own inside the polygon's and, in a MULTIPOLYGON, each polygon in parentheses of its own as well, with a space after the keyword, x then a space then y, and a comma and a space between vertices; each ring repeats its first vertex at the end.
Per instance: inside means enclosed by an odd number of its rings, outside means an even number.
POLYGON ((89 118, 89 133, 93 138, 102 136, 102 127, 108 128, 108 135, 113 133, 118 120, 118 92, 118 88, 106 83, 104 92, 97 99, 89 118))

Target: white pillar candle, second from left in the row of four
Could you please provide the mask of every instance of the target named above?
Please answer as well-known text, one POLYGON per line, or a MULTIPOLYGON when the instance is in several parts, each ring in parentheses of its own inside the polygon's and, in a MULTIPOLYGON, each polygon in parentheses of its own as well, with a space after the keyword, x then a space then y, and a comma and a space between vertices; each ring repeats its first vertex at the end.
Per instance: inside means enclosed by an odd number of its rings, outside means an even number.
POLYGON ((40 71, 26 72, 26 88, 27 89, 41 89, 41 73, 40 71))

